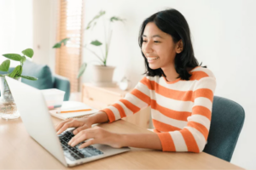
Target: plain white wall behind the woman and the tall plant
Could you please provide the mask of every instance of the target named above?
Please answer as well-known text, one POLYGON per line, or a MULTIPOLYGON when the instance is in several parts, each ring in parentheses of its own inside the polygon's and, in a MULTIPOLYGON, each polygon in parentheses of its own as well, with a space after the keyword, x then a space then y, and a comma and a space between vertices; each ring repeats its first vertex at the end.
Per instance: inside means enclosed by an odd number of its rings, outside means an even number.
MULTIPOLYGON (((253 0, 85 0, 84 24, 86 26, 101 9, 107 11, 108 17, 118 15, 126 19, 125 26, 119 23, 113 26, 108 65, 117 67, 114 81, 128 76, 134 87, 144 71, 137 42, 139 27, 149 15, 162 9, 177 8, 189 22, 196 58, 217 77, 215 95, 235 100, 246 111, 246 121, 231 162, 247 169, 256 169, 253 126, 256 122, 256 81, 253 74, 256 62, 253 50, 256 45, 255 6, 253 0)), ((102 29, 102 26, 99 27, 102 29)), ((99 32, 97 35, 92 33, 85 32, 85 42, 102 37, 99 32)), ((84 50, 84 61, 91 59, 96 57, 84 50)), ((90 82, 91 77, 89 66, 83 81, 90 82)))

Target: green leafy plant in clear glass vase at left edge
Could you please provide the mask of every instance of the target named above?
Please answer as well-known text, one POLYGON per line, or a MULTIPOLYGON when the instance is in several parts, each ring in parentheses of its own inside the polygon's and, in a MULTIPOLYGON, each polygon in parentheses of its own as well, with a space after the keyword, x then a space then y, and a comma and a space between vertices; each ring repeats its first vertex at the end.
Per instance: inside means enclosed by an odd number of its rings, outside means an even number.
POLYGON ((20 117, 5 77, 12 77, 18 81, 21 80, 21 77, 32 81, 38 80, 36 77, 22 75, 23 63, 26 61, 26 57, 32 58, 34 54, 33 50, 31 48, 27 48, 22 51, 22 54, 22 56, 20 54, 3 54, 4 57, 8 58, 0 65, 0 71, 3 71, 0 73, 0 113, 3 119, 15 119, 20 117), (20 61, 20 65, 17 65, 11 72, 9 72, 10 59, 20 61))

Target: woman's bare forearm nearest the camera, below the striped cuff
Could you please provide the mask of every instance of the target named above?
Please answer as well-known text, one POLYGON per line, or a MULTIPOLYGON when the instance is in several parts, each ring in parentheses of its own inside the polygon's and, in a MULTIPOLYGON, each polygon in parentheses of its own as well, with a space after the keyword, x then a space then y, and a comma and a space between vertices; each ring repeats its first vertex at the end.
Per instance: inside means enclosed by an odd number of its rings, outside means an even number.
POLYGON ((160 139, 156 133, 119 134, 117 140, 122 147, 162 150, 160 139))

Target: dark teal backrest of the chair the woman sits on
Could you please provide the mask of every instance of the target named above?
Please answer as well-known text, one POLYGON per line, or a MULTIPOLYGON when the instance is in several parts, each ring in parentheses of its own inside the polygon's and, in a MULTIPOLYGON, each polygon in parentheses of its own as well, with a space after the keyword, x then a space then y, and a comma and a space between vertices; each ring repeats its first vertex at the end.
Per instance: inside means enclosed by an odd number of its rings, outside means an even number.
POLYGON ((212 122, 204 152, 230 161, 241 133, 245 112, 230 99, 214 96, 212 122))

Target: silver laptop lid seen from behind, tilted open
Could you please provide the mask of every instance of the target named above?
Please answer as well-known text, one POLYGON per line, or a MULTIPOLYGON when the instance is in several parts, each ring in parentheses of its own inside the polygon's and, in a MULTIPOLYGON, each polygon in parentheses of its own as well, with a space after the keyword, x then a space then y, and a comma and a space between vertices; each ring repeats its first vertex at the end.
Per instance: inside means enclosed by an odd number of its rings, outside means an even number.
POLYGON ((55 127, 51 121, 43 94, 37 88, 32 88, 13 78, 6 77, 6 81, 15 99, 26 131, 67 167, 67 162, 65 161, 59 138, 55 133, 55 127))

